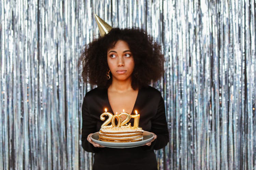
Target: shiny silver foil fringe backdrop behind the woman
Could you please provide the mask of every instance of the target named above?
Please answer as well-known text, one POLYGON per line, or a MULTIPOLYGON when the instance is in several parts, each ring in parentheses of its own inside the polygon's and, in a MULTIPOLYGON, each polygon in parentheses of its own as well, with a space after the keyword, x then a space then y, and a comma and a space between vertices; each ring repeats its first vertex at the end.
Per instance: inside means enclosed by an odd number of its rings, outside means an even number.
MULTIPOLYGON (((256 169, 255 0, 0 0, 0 169, 91 169, 77 68, 93 13, 163 47, 159 169, 256 169)), ((157 56, 156 56, 157 57, 157 56)), ((131 158, 132 160, 132 158, 131 158)), ((113 160, 114 161, 114 160, 113 160)))

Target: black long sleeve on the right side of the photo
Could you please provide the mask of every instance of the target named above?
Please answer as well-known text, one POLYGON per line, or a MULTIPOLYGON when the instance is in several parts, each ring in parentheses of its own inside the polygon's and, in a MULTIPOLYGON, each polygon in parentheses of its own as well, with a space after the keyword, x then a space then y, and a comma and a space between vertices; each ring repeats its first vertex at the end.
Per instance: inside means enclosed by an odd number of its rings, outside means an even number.
POLYGON ((144 146, 144 150, 158 150, 165 147, 169 142, 169 132, 165 116, 165 103, 162 97, 160 97, 157 113, 151 119, 151 123, 151 132, 155 133, 157 138, 151 143, 151 146, 144 146))

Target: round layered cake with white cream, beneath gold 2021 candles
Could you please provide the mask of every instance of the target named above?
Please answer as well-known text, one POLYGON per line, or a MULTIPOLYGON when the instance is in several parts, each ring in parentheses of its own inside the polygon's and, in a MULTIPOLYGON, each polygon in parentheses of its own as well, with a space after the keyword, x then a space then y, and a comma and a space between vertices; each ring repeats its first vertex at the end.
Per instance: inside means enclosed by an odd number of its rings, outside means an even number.
POLYGON ((101 128, 99 139, 106 142, 136 142, 143 139, 143 130, 128 127, 101 128))

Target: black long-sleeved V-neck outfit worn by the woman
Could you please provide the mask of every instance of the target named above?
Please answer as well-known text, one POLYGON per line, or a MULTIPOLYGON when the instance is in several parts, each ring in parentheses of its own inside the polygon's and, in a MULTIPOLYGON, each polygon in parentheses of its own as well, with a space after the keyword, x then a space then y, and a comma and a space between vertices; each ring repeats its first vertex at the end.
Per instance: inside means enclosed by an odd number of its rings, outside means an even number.
MULTIPOLYGON (((134 148, 95 148, 87 141, 90 133, 100 130, 104 121, 100 120, 100 115, 104 108, 112 114, 112 108, 108 99, 108 89, 95 88, 86 93, 82 106, 82 147, 87 152, 93 152, 94 170, 102 169, 147 169, 156 170, 157 161, 154 150, 165 147, 169 141, 167 129, 165 104, 161 93, 153 87, 139 89, 132 113, 137 110, 140 114, 139 126, 144 131, 153 132, 157 139, 151 146, 140 146, 134 148)), ((133 124, 134 119, 130 119, 133 124)))

